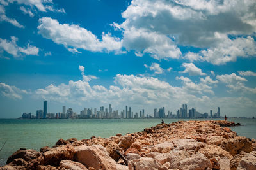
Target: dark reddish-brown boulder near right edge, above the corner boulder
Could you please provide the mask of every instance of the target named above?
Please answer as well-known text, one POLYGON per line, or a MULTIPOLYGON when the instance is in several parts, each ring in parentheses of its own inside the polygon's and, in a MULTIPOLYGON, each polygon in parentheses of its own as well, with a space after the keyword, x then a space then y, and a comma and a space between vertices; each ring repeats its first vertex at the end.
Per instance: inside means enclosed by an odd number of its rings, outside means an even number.
POLYGON ((235 138, 223 141, 221 143, 221 148, 223 148, 223 150, 227 150, 233 156, 239 154, 242 150, 246 153, 252 151, 250 141, 244 136, 236 136, 235 138))

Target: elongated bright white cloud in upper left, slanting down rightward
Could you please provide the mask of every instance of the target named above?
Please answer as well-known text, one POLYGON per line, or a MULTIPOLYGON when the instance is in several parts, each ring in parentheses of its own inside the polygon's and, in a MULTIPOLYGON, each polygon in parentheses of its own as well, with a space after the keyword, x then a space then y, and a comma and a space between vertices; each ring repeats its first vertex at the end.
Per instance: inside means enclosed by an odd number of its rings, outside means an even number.
POLYGON ((39 19, 38 32, 44 38, 52 39, 54 43, 64 45, 72 52, 77 52, 77 48, 92 52, 120 51, 122 45, 118 38, 114 38, 110 33, 102 33, 102 40, 92 34, 91 31, 74 24, 59 24, 58 20, 49 17, 39 19))

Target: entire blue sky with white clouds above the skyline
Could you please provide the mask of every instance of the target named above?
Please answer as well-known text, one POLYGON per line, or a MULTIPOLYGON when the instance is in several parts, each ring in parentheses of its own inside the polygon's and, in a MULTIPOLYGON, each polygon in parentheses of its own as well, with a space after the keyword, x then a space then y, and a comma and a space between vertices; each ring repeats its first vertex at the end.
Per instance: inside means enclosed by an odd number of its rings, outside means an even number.
POLYGON ((112 104, 256 116, 254 0, 0 0, 0 118, 112 104))

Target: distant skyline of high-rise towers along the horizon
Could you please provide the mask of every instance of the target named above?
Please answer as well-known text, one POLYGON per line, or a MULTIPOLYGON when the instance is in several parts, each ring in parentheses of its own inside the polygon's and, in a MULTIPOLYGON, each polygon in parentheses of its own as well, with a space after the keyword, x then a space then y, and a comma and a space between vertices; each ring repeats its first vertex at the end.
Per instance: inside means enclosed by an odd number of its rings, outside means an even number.
MULTIPOLYGON (((112 104, 109 104, 108 108, 104 106, 100 106, 99 110, 97 108, 84 108, 79 113, 72 110, 72 108, 68 108, 66 110, 66 106, 62 106, 62 112, 58 113, 47 113, 47 101, 44 101, 44 109, 36 110, 36 116, 31 112, 22 113, 21 118, 31 118, 31 119, 45 119, 45 118, 221 118, 220 107, 217 108, 217 112, 212 114, 212 110, 210 113, 204 112, 200 113, 196 111, 195 108, 191 108, 188 110, 187 104, 182 104, 182 108, 178 109, 175 113, 168 110, 168 113, 165 111, 165 107, 154 108, 153 113, 150 111, 145 113, 145 109, 141 109, 140 111, 132 111, 132 107, 125 106, 125 110, 118 111, 113 110, 112 104), (120 114, 119 114, 120 113, 120 114)), ((226 114, 225 114, 226 115, 226 114)), ((227 115, 228 116, 228 115, 227 115)))

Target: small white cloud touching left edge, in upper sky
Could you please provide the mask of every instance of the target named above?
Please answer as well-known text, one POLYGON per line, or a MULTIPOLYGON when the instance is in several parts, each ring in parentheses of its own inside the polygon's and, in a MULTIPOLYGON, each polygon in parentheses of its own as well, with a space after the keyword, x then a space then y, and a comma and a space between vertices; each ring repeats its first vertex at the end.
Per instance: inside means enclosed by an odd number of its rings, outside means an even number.
POLYGON ((38 55, 39 49, 35 46, 27 44, 26 47, 20 47, 17 45, 18 38, 11 37, 11 41, 0 38, 0 49, 10 53, 13 57, 20 57, 22 55, 38 55))

